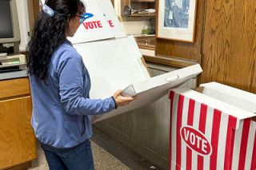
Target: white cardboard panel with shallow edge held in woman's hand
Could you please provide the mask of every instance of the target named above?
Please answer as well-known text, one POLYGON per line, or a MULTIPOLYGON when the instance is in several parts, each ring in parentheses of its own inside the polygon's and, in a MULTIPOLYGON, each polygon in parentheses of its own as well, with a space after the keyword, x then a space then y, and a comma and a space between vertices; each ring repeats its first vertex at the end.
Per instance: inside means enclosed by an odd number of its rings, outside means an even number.
POLYGON ((137 109, 150 104, 166 95, 170 89, 182 85, 182 83, 197 76, 199 73, 202 73, 201 66, 192 65, 184 69, 177 69, 170 73, 164 73, 157 77, 151 77, 146 81, 134 83, 134 91, 137 94, 137 99, 135 101, 132 101, 129 105, 119 107, 110 113, 95 116, 94 122, 102 121, 120 113, 126 113, 132 109, 137 109))

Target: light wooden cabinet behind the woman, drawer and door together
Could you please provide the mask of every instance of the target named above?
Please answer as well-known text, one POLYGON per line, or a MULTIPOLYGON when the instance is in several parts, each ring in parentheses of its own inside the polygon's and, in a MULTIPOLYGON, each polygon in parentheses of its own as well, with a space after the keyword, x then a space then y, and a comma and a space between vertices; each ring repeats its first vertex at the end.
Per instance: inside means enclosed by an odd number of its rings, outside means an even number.
POLYGON ((0 81, 0 169, 36 158, 28 78, 0 81))

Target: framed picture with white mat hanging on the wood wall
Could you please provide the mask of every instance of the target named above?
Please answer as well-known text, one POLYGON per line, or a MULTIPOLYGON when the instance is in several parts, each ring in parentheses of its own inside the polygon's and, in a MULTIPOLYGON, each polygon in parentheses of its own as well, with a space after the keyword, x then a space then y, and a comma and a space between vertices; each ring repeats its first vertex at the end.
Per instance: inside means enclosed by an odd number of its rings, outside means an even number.
POLYGON ((194 42, 197 0, 158 0, 157 38, 194 42))

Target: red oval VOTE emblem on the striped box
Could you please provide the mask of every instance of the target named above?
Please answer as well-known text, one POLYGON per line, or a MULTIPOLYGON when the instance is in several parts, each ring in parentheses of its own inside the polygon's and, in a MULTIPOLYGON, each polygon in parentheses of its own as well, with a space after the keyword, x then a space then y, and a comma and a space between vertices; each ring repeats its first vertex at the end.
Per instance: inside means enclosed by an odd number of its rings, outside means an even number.
POLYGON ((198 152, 199 155, 207 156, 211 154, 212 146, 202 132, 187 125, 180 129, 180 133, 186 145, 195 152, 198 152))

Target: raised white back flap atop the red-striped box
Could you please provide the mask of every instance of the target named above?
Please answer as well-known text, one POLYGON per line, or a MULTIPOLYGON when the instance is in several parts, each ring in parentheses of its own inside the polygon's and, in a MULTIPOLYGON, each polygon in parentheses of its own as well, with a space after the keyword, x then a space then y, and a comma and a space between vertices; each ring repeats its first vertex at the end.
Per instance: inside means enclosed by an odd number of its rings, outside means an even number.
POLYGON ((203 87, 202 93, 207 96, 225 101, 230 105, 245 109, 248 112, 256 113, 256 95, 254 93, 249 93, 228 85, 222 85, 217 82, 202 84, 200 87, 203 87))

